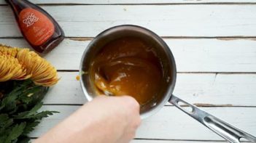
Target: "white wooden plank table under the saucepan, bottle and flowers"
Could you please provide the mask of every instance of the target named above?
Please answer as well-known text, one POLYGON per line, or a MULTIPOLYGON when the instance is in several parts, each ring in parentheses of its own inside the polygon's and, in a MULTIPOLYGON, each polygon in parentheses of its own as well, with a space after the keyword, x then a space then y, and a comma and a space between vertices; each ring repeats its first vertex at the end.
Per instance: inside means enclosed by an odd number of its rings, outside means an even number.
MULTIPOLYGON (((65 40, 45 56, 61 81, 42 110, 58 110, 31 134, 36 138, 86 101, 76 80, 91 39, 106 28, 141 25, 162 36, 177 62, 174 94, 256 136, 256 1, 33 0, 53 15, 65 40)), ((29 47, 11 9, 0 0, 0 43, 29 47)), ((225 142, 167 104, 143 120, 133 143, 225 142)))

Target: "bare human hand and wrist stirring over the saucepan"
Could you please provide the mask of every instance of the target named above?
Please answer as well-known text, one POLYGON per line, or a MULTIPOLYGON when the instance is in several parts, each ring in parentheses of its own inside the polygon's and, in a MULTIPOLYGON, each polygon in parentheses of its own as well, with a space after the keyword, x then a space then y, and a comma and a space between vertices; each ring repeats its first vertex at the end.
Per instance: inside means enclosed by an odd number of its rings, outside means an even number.
POLYGON ((139 103, 132 97, 100 96, 36 142, 129 142, 140 122, 139 103))

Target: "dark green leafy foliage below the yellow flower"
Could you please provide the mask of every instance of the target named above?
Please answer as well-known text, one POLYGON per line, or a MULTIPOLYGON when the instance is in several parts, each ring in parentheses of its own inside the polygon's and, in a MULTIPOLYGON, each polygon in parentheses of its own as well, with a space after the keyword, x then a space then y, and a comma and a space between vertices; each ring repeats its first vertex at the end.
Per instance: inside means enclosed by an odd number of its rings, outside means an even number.
POLYGON ((0 91, 4 94, 0 99, 0 143, 29 142, 26 135, 40 120, 58 113, 38 113, 47 90, 44 86, 36 86, 31 80, 0 83, 0 91))

